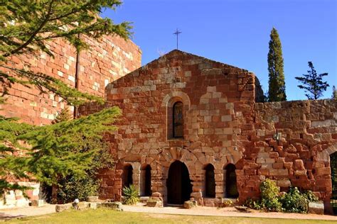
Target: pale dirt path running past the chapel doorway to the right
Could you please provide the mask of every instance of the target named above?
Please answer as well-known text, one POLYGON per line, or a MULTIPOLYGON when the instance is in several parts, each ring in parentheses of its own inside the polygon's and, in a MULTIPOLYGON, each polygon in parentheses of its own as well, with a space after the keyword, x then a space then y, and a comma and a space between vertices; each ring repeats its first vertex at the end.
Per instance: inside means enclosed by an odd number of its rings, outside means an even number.
POLYGON ((265 213, 252 212, 242 213, 235 208, 210 208, 198 207, 192 209, 184 209, 177 207, 150 208, 139 203, 137 206, 122 206, 124 211, 139 213, 161 213, 174 215, 210 215, 210 216, 232 216, 232 217, 256 217, 256 218, 293 218, 293 219, 316 219, 316 220, 336 220, 337 216, 333 215, 314 215, 314 214, 298 214, 298 213, 265 213))

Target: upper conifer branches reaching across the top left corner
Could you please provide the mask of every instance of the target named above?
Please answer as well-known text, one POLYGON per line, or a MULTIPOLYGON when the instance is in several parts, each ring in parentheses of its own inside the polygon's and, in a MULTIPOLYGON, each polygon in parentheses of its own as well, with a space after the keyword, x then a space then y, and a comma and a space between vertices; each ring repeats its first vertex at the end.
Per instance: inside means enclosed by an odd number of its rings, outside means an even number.
POLYGON ((116 9, 119 0, 4 0, 0 6, 0 83, 4 94, 14 83, 37 86, 42 92, 52 91, 68 103, 78 106, 85 101, 100 101, 97 96, 70 88, 58 79, 32 72, 30 65, 12 67, 11 57, 22 54, 38 56, 42 52, 53 57, 48 42, 61 38, 68 40, 77 50, 89 47, 85 38, 100 38, 117 34, 131 35, 130 23, 114 24, 109 18, 97 16, 102 9, 116 9))

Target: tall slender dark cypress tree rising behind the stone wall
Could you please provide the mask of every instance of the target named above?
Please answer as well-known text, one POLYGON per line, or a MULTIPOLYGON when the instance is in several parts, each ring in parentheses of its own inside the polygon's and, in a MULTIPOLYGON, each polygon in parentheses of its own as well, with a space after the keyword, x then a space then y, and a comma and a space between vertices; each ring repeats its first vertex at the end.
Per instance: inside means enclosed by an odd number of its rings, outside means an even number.
POLYGON ((269 72, 269 101, 286 101, 286 87, 284 83, 282 44, 279 40, 279 33, 272 28, 269 40, 268 52, 268 72, 269 72))

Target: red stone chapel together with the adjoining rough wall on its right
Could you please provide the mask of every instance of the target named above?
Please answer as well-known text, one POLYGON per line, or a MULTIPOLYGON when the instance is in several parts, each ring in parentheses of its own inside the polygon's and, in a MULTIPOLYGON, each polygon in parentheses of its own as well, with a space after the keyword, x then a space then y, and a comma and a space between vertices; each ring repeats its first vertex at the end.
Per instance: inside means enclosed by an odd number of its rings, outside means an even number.
POLYGON ((314 191, 329 208, 336 100, 260 103, 262 95, 252 72, 180 50, 108 84, 105 107, 123 115, 107 138, 117 164, 100 174, 101 198, 119 200, 134 184, 164 203, 216 206, 257 198, 273 179, 282 191, 314 191))

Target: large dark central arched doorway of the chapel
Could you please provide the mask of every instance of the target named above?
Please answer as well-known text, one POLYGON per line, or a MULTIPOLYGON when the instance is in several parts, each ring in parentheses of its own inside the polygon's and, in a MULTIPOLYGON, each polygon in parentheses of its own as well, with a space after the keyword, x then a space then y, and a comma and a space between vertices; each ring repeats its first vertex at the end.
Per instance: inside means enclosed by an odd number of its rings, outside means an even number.
POLYGON ((188 169, 183 162, 176 160, 171 164, 166 187, 168 203, 183 204, 190 199, 192 184, 188 169))

